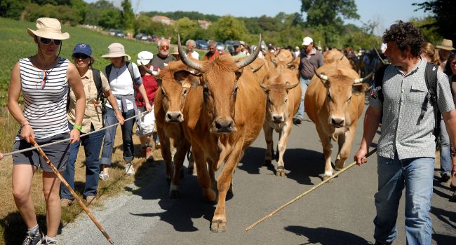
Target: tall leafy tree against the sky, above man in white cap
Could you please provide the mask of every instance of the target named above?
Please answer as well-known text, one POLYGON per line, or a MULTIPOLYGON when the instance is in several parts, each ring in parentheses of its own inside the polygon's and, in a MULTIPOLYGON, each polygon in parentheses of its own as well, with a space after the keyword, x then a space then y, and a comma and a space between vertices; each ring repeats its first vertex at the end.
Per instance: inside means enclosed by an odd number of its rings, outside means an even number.
POLYGON ((309 25, 342 25, 342 17, 359 19, 354 0, 301 0, 309 25))

